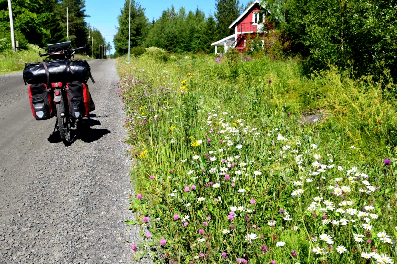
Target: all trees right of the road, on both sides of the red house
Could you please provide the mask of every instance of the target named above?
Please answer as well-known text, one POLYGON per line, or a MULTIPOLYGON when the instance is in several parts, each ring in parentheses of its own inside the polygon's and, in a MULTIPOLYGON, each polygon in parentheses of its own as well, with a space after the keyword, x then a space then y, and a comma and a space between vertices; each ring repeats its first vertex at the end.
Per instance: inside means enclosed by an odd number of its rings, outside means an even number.
MULTIPOLYGON (((118 55, 128 52, 128 2, 114 38, 118 55)), ((131 47, 212 52, 210 44, 233 34, 229 25, 252 1, 243 8, 238 0, 215 0, 209 16, 199 7, 187 12, 171 6, 150 22, 140 4, 131 3, 131 47)), ((396 0, 263 0, 261 5, 267 24, 278 32, 276 43, 288 42, 287 55, 300 57, 306 72, 332 64, 358 75, 397 78, 396 0)))

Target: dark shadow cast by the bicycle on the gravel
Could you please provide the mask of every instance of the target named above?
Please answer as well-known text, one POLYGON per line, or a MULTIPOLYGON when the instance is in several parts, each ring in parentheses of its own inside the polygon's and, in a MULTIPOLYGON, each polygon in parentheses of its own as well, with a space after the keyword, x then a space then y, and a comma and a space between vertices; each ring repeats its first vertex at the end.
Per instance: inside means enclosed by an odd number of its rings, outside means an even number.
MULTIPOLYGON (((107 116, 96 116, 95 114, 89 114, 88 118, 83 118, 81 120, 79 131, 77 132, 75 129, 71 130, 71 136, 73 138, 72 143, 77 139, 81 139, 85 143, 91 143, 97 141, 101 137, 110 133, 108 129, 99 129, 93 128, 93 126, 100 126, 101 123, 97 119, 93 119, 93 117, 107 117, 107 116)), ((56 130, 47 138, 50 143, 60 143, 62 142, 59 131, 56 130)))

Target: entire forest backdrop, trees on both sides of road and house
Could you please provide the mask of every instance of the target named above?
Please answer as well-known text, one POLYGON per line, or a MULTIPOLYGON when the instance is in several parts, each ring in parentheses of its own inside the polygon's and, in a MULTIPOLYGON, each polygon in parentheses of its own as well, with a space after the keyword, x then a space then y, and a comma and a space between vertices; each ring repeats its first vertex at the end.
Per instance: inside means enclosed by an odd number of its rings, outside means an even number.
MULTIPOLYGON (((113 39, 116 57, 128 52, 128 4, 125 0, 121 7, 113 39)), ((186 11, 171 6, 159 19, 149 21, 140 3, 131 0, 132 53, 140 55, 150 46, 171 53, 211 53, 214 47, 210 44, 233 34, 228 26, 250 4, 215 0, 216 10, 209 15, 199 7, 186 11)), ((333 65, 379 81, 397 77, 397 1, 264 0, 261 4, 272 34, 265 37, 265 49, 248 49, 248 53, 298 58, 306 75, 333 65)), ((44 48, 65 41, 63 10, 68 6, 72 45, 87 45, 94 58, 98 58, 98 45, 110 51, 110 43, 99 30, 85 22, 84 0, 12 0, 12 5, 15 39, 22 50, 28 44, 44 48), (94 48, 89 36, 94 36, 94 48)), ((0 53, 11 49, 9 27, 7 0, 0 0, 0 53)))

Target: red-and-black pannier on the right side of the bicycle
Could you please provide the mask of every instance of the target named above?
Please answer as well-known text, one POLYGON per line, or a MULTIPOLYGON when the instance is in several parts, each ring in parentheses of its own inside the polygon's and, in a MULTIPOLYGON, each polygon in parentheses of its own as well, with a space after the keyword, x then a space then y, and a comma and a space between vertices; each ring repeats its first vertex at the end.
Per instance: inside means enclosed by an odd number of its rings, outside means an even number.
POLYGON ((69 110, 74 118, 86 117, 95 110, 88 85, 79 81, 66 84, 69 110))

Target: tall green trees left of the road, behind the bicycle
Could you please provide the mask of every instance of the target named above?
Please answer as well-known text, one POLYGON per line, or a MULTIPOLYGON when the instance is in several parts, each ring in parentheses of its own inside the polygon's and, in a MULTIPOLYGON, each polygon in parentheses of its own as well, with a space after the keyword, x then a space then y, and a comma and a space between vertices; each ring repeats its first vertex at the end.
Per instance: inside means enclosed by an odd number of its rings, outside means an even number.
MULTIPOLYGON (((66 7, 69 13, 69 40, 72 47, 87 46, 87 54, 98 58, 98 46, 110 49, 100 31, 87 24, 84 0, 12 0, 15 41, 20 49, 28 44, 46 48, 47 44, 67 41, 66 7), (90 36, 90 40, 88 37, 90 36), (92 39, 94 45, 92 47, 92 39)), ((7 0, 0 0, 0 52, 11 49, 7 0)))

